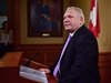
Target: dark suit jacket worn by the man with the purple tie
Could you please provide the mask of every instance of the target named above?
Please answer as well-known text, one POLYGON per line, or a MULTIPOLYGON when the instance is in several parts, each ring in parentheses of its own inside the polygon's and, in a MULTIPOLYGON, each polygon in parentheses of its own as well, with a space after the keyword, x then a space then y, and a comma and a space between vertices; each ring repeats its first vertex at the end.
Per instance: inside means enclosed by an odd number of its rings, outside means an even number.
MULTIPOLYGON (((51 72, 53 72, 59 58, 49 68, 51 72)), ((60 81, 58 83, 100 83, 98 60, 97 39, 83 24, 69 41, 60 63, 60 81)))

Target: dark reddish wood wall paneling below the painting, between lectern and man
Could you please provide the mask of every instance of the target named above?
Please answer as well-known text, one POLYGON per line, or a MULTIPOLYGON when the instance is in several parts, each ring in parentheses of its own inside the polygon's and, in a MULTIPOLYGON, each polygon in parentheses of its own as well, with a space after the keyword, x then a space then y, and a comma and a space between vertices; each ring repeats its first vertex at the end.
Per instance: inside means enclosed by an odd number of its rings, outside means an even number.
POLYGON ((34 56, 37 52, 40 52, 32 60, 48 66, 52 65, 56 62, 62 44, 21 44, 20 51, 23 52, 24 58, 30 59, 34 56))

